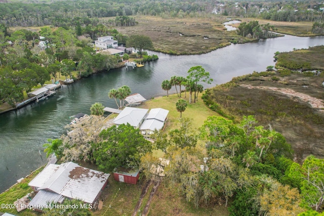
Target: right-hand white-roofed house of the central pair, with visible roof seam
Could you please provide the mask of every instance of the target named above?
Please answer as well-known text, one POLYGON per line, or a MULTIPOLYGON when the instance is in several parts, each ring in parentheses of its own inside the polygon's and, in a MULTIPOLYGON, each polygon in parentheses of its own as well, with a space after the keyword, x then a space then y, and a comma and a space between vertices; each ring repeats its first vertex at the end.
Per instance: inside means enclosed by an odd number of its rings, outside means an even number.
POLYGON ((151 109, 146 118, 141 125, 141 134, 144 137, 149 137, 154 133, 154 130, 157 129, 159 131, 163 128, 167 116, 169 114, 169 110, 162 108, 154 108, 151 109))

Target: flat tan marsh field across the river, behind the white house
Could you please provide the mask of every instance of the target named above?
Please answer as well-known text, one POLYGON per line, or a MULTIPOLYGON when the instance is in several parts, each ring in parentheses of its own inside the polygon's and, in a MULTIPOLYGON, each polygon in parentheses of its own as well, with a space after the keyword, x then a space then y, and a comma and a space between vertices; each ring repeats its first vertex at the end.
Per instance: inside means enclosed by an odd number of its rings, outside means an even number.
POLYGON ((221 23, 226 17, 163 19, 160 17, 137 16, 136 26, 117 27, 123 34, 145 34, 149 36, 155 51, 175 55, 202 54, 230 45, 230 41, 251 41, 227 31, 221 23), (182 36, 180 35, 182 34, 182 36), (205 39, 204 37, 208 37, 205 39))

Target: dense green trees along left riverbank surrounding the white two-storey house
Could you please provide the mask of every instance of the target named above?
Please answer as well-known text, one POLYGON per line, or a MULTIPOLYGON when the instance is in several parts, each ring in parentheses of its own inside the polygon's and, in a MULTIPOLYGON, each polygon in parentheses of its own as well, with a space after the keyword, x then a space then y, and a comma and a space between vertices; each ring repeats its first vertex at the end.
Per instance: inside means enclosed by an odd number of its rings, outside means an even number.
MULTIPOLYGON (((97 54, 92 38, 77 37, 77 31, 73 29, 42 27, 40 32, 22 29, 10 34, 5 25, 0 27, 0 99, 12 106, 23 100, 24 92, 28 93, 38 83, 43 85, 50 80, 50 75, 55 81, 61 75, 72 78, 72 71, 77 71, 78 77, 85 77, 114 68, 119 58, 97 54), (35 51, 42 42, 45 50, 35 51)), ((128 38, 104 25, 91 31, 89 33, 94 38, 110 34, 125 43, 128 38)))

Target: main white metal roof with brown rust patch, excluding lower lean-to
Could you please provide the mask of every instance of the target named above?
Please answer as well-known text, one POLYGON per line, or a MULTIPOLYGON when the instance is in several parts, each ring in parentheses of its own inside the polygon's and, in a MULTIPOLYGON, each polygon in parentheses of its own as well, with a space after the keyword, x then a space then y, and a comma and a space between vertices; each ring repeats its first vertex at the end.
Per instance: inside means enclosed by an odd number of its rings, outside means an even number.
MULTIPOLYGON (((42 171, 33 181, 38 182, 38 179, 45 179, 47 175, 47 172, 42 171)), ((38 189, 93 203, 109 176, 104 172, 67 162, 59 165, 57 170, 38 189)))

